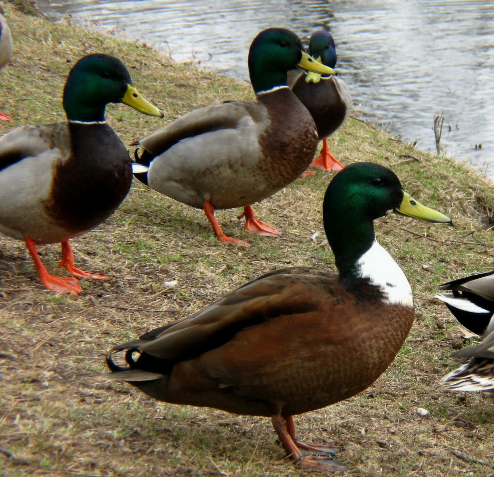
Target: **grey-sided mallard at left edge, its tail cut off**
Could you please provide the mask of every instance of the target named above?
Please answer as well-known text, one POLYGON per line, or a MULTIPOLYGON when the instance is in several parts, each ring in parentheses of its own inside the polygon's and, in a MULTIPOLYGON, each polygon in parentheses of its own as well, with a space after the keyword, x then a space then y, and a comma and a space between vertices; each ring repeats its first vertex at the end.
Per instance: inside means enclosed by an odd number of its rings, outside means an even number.
POLYGON ((0 232, 25 240, 50 290, 79 293, 77 278, 105 278, 75 267, 69 239, 113 214, 129 190, 130 157, 105 121, 106 105, 121 102, 164 116, 137 92, 120 60, 87 55, 65 83, 66 123, 25 126, 0 138, 0 232), (43 266, 36 246, 57 242, 63 253, 59 266, 76 278, 52 276, 43 266))

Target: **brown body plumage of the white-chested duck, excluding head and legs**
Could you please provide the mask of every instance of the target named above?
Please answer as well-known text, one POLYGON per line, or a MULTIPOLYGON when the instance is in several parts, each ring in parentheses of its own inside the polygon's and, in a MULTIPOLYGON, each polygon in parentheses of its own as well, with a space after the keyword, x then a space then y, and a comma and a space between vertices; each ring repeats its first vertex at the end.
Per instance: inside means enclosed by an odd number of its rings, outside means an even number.
POLYGON ((131 382, 152 397, 288 417, 346 399, 388 367, 413 309, 383 306, 381 299, 365 280, 348 291, 329 271, 280 269, 118 349, 139 347, 135 367, 164 374, 131 382))

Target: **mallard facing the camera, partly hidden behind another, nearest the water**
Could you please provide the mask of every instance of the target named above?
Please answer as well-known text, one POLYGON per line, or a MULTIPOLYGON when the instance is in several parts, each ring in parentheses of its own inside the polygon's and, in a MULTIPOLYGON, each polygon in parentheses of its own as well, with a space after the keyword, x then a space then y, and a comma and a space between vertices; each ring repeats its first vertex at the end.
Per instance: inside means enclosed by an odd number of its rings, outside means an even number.
MULTIPOLYGON (((333 37, 326 30, 315 31, 307 52, 324 65, 334 68, 336 48, 333 37)), ((321 76, 300 72, 289 84, 302 104, 309 110, 317 126, 323 149, 311 167, 323 171, 340 171, 343 166, 329 152, 328 137, 348 118, 352 110, 352 95, 343 80, 337 76, 321 76)), ((306 173, 304 175, 311 175, 306 173)))

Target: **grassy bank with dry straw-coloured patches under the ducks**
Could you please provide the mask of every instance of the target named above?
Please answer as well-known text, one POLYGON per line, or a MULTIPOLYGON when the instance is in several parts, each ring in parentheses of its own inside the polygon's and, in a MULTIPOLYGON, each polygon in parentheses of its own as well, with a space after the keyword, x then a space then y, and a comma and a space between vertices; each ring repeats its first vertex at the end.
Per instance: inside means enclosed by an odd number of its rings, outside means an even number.
MULTIPOLYGON (((0 111, 14 121, 0 123, 0 133, 62 121, 66 74, 90 52, 120 57, 135 86, 165 111, 165 122, 206 104, 253 97, 248 85, 173 63, 142 43, 50 23, 11 6, 6 17, 15 56, 0 72, 0 111)), ((125 144, 165 124, 124 105, 110 105, 107 120, 125 144)), ((412 332, 369 390, 296 417, 299 435, 344 446, 338 458, 354 475, 492 476, 492 468, 452 454, 494 462, 494 407, 483 394, 439 389, 438 379, 456 364, 448 355, 471 340, 433 296, 445 281, 492 268, 493 187, 448 158, 355 119, 330 146, 344 164, 391 167, 416 199, 452 217, 454 228, 397 216, 375 222, 378 240, 412 283, 412 332), (417 407, 430 417, 414 414, 417 407)), ((77 300, 47 292, 24 245, 0 236, 0 474, 304 475, 282 460, 269 420, 159 403, 98 372, 111 345, 181 319, 252 276, 281 266, 334 269, 321 217, 330 177, 298 179, 254 207, 283 239, 247 237, 238 211, 220 211, 225 233, 251 240, 250 249, 221 244, 202 212, 135 182, 113 217, 73 241, 82 269, 110 276, 86 280, 86 294, 77 300), (173 278, 176 286, 167 288, 173 278)), ((53 269, 58 246, 40 251, 53 269)))

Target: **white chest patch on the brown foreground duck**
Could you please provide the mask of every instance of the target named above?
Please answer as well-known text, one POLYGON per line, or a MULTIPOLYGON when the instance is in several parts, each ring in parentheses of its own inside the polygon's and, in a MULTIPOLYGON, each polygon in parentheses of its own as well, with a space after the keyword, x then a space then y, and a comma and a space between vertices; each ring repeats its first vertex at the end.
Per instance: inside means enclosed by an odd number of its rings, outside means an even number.
POLYGON ((357 266, 360 278, 381 289, 384 303, 413 307, 412 288, 405 272, 375 240, 357 266))

